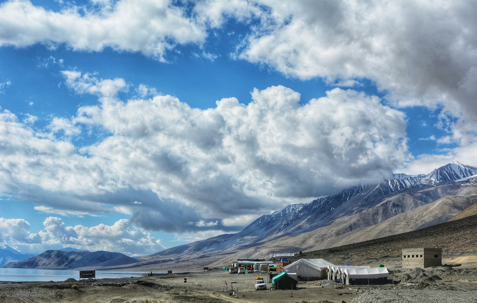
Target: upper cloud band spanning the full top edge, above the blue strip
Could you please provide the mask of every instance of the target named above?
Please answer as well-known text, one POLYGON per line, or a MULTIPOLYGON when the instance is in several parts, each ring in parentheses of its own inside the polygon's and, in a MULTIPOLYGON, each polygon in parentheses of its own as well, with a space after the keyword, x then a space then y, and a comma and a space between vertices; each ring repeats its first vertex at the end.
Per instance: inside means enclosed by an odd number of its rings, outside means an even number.
POLYGON ((347 87, 370 79, 398 106, 444 105, 477 119, 477 9, 469 1, 203 0, 187 9, 167 0, 95 0, 55 12, 9 0, 0 5, 0 45, 112 47, 166 61, 178 44, 210 54, 207 36, 235 20, 249 26, 238 58, 347 87))

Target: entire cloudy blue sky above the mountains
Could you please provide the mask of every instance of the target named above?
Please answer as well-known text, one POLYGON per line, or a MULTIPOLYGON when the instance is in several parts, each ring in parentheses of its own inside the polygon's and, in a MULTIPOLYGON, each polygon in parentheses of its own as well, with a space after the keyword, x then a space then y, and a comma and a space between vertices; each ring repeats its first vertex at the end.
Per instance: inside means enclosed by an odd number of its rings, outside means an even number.
POLYGON ((475 9, 0 1, 0 242, 141 256, 477 166, 475 9))

